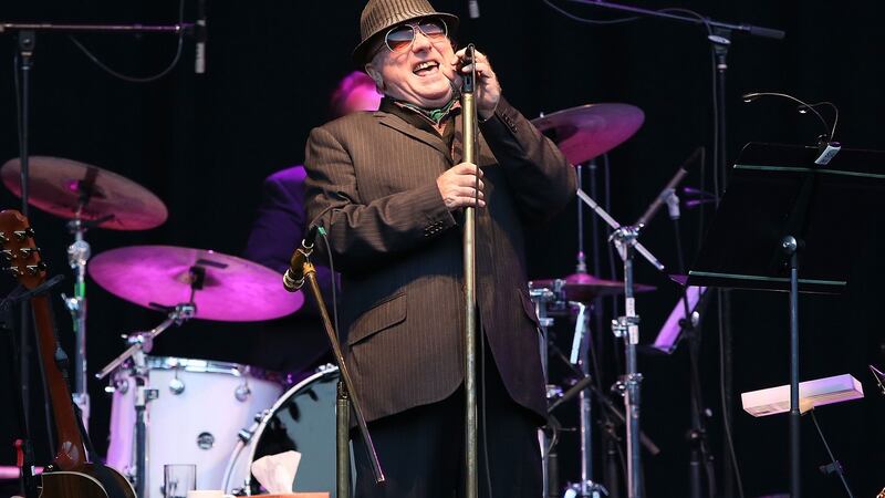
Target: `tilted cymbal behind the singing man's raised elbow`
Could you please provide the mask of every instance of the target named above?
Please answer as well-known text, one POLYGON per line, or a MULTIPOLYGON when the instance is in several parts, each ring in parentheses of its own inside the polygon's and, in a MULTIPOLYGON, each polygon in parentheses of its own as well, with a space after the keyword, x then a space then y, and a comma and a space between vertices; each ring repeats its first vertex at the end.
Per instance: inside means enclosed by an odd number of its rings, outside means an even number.
POLYGON ((645 121, 639 107, 629 104, 587 104, 532 120, 572 165, 607 153, 633 136, 645 121))

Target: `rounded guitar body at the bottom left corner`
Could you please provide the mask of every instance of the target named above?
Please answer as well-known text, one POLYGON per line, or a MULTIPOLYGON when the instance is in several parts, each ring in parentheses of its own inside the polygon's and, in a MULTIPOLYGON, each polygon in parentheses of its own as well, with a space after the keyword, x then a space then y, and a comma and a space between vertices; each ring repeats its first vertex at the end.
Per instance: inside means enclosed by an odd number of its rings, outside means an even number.
POLYGON ((136 498, 125 477, 101 464, 81 471, 54 470, 41 475, 40 498, 136 498))

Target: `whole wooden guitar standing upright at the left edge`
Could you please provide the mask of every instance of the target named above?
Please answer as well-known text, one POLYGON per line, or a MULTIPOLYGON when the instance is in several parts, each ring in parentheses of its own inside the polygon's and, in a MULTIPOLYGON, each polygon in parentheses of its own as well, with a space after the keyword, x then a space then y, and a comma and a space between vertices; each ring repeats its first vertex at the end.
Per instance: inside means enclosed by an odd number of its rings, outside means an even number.
MULTIPOLYGON (((46 281, 46 266, 40 259, 40 249, 33 238, 34 231, 21 212, 0 211, 0 261, 6 260, 8 264, 3 270, 15 276, 19 283, 31 291, 46 281)), ((136 498, 132 485, 119 473, 86 460, 71 392, 56 359, 59 345, 45 290, 31 297, 31 308, 58 436, 58 453, 51 468, 41 476, 40 497, 136 498)))

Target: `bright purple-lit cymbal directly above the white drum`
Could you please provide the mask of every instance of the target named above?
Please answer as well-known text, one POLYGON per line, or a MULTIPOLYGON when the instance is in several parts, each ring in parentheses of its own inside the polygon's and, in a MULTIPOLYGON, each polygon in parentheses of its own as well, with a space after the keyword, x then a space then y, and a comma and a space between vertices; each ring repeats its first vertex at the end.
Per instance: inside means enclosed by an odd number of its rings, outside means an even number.
MULTIPOLYGON (((194 272, 205 269, 202 288, 194 292, 195 318, 226 322, 271 320, 295 312, 301 292, 287 292, 282 276, 235 256, 173 246, 112 249, 90 261, 98 286, 135 304, 156 309, 190 301, 194 272)), ((199 287, 199 286, 197 286, 199 287)))

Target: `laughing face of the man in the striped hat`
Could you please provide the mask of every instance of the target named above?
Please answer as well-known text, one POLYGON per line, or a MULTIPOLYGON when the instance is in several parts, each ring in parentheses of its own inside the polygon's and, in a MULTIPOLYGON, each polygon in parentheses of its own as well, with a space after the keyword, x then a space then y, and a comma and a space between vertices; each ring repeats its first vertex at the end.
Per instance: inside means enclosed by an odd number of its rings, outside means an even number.
POLYGON ((440 107, 452 95, 456 56, 451 40, 431 40, 417 28, 414 33, 414 41, 402 52, 382 44, 366 71, 373 79, 383 80, 384 93, 394 98, 421 107, 440 107))

